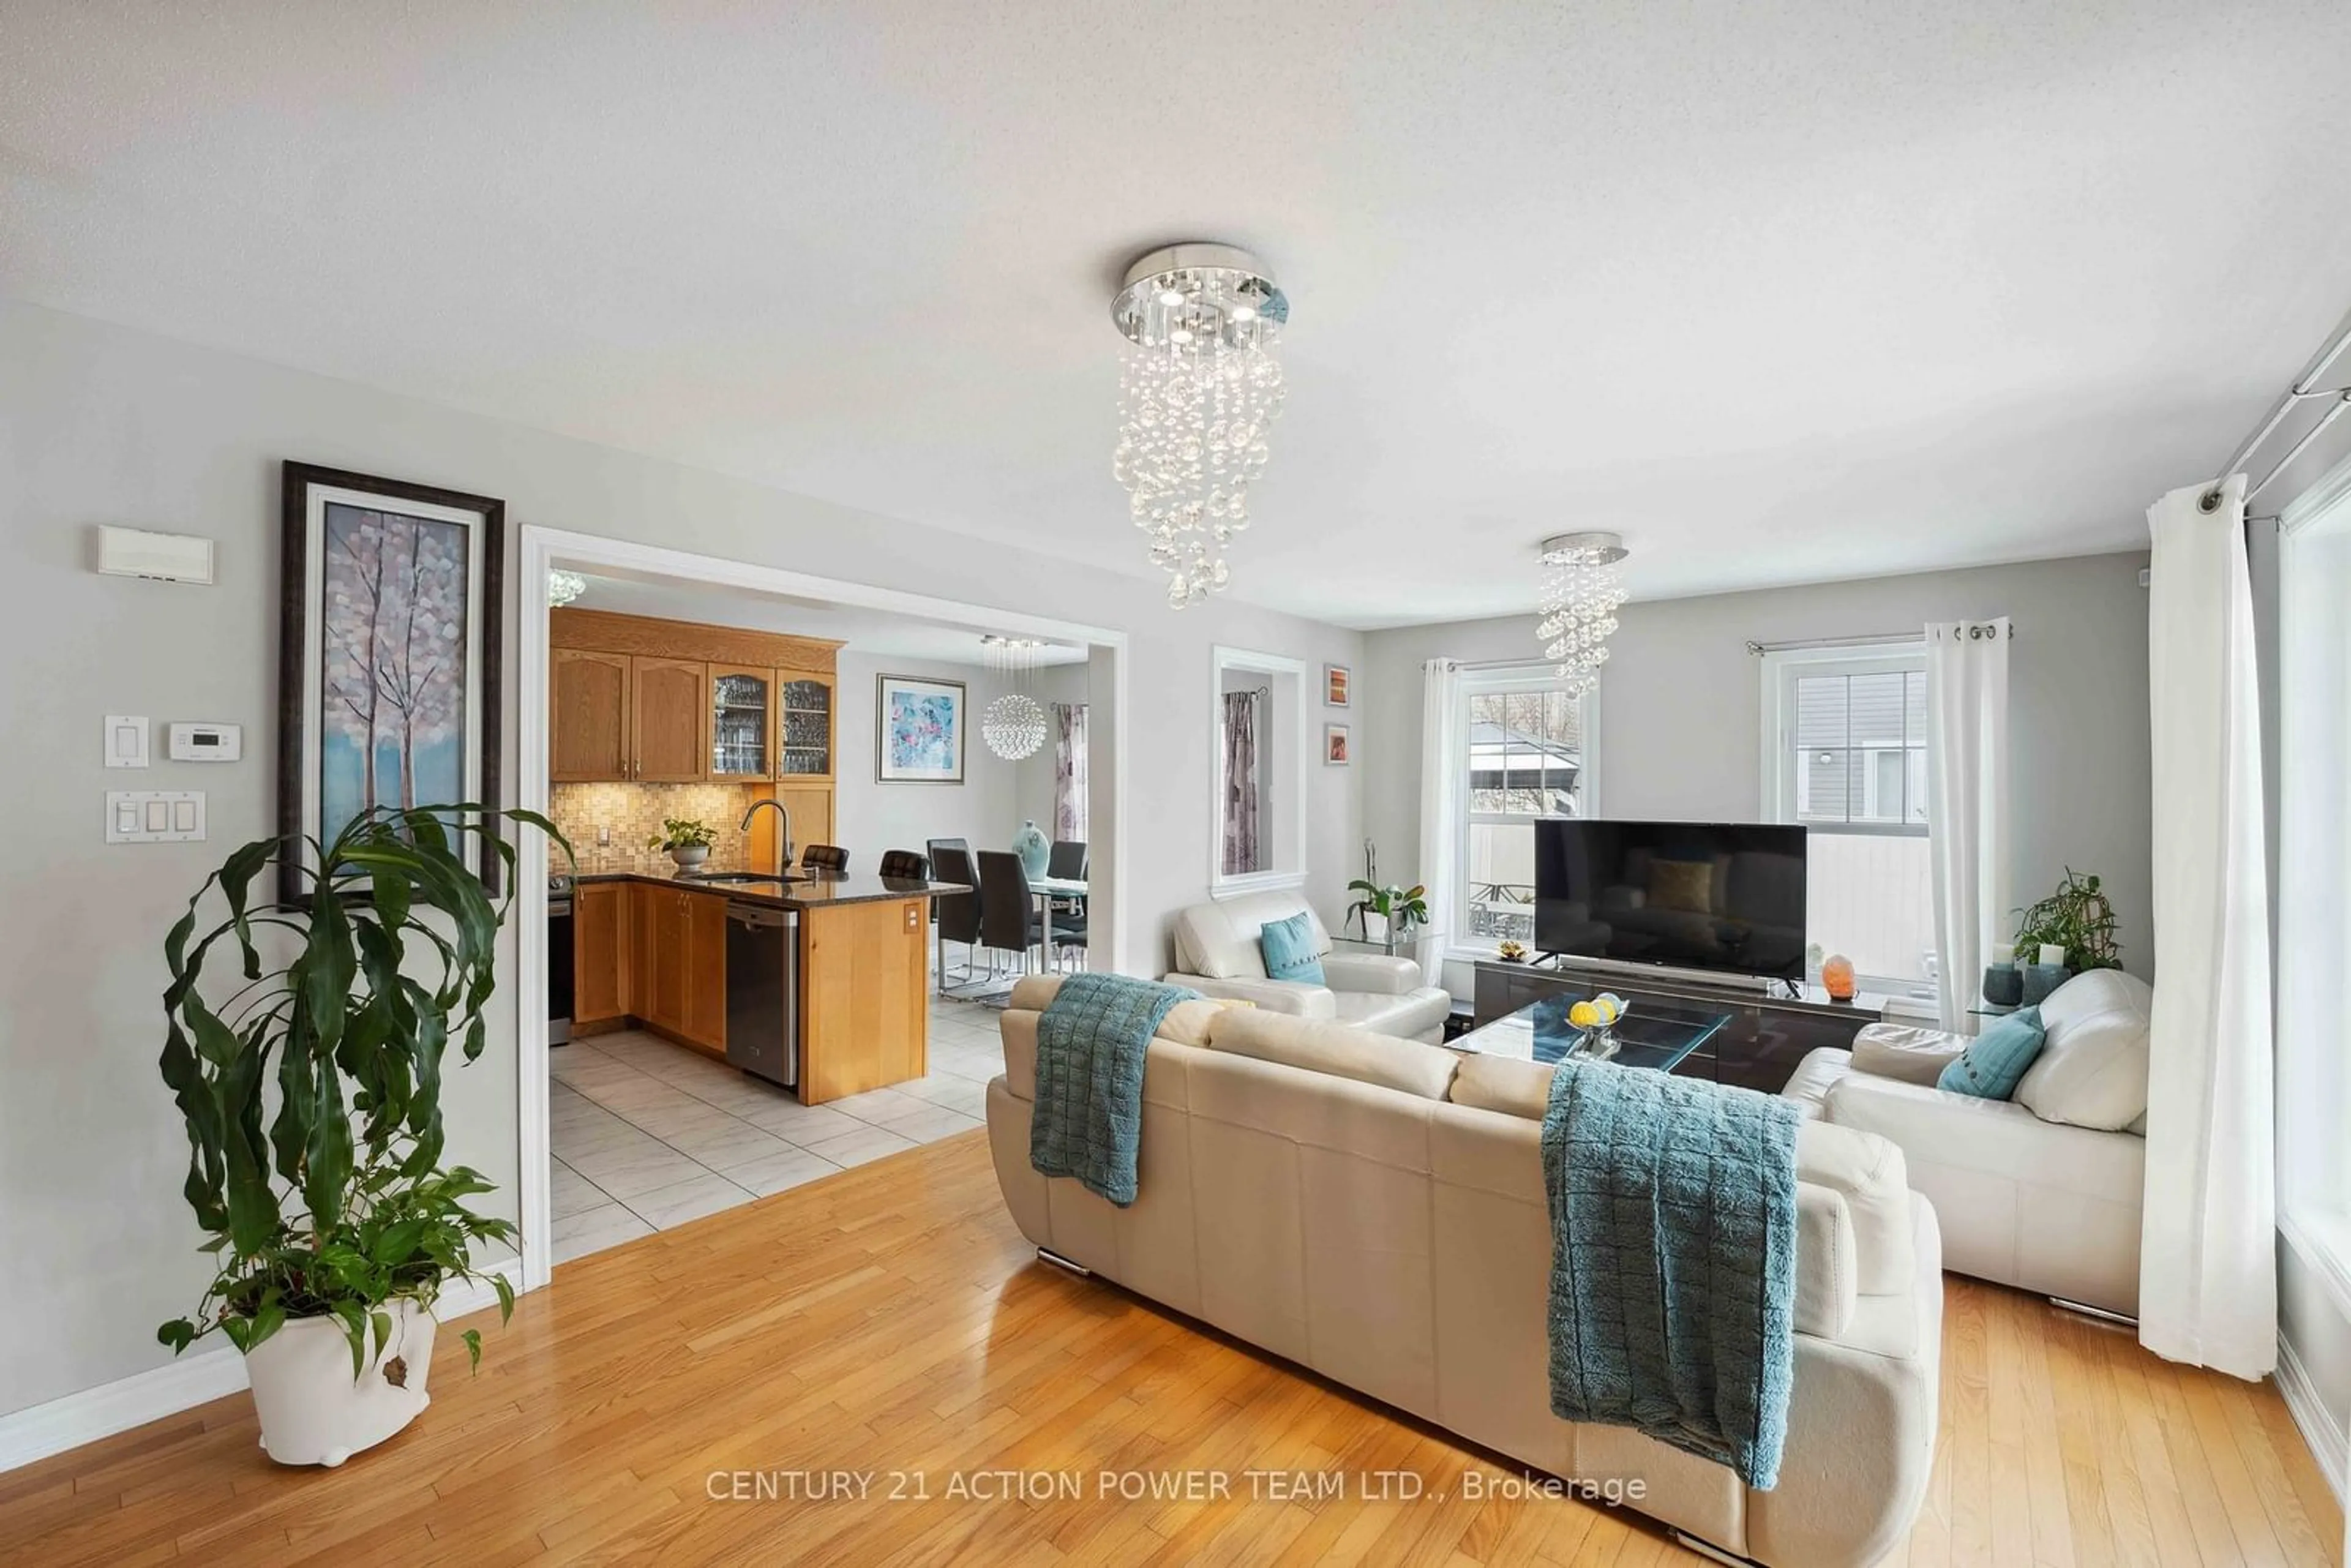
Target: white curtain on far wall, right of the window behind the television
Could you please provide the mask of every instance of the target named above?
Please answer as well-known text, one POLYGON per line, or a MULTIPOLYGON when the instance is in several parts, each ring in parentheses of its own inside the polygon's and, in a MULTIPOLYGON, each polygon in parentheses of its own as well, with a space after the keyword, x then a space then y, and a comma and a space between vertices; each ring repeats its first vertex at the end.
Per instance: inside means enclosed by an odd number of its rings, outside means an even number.
POLYGON ((2008 618, 1925 628, 1925 830, 1935 865, 1935 997, 1972 1034, 1984 952, 2010 931, 2008 618))

